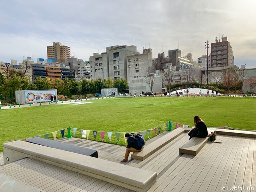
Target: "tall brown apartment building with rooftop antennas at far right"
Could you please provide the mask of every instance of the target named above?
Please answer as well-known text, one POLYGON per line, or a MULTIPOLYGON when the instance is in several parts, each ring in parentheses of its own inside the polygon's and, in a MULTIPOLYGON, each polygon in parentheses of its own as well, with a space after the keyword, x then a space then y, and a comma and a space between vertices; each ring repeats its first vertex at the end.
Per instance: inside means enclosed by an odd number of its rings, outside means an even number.
POLYGON ((211 67, 234 65, 233 50, 227 39, 227 36, 222 37, 222 41, 216 39, 211 44, 211 67))

